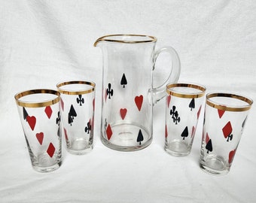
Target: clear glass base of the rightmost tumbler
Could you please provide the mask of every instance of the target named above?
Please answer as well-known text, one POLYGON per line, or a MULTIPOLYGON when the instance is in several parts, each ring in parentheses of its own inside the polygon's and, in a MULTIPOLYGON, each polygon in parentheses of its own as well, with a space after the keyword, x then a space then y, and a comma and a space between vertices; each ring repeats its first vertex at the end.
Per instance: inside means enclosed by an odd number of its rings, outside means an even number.
POLYGON ((206 160, 200 159, 200 168, 208 174, 224 175, 230 171, 221 156, 208 156, 206 160))

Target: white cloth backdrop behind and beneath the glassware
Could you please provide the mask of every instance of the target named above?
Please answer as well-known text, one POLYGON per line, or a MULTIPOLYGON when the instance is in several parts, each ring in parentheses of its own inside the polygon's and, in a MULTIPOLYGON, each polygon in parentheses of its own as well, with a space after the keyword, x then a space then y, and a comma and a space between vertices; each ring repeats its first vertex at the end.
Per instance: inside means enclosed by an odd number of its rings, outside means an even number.
POLYGON ((110 150, 99 140, 102 52, 93 47, 102 35, 153 35, 157 49, 168 45, 178 52, 180 81, 256 101, 255 9, 253 0, 1 0, 0 201, 256 201, 254 106, 224 177, 199 168, 200 127, 189 156, 177 158, 163 150, 163 100, 154 107, 154 140, 149 147, 133 153, 110 150), (96 82, 94 149, 72 156, 63 147, 62 166, 38 173, 30 164, 14 94, 56 89, 57 82, 72 79, 96 82))

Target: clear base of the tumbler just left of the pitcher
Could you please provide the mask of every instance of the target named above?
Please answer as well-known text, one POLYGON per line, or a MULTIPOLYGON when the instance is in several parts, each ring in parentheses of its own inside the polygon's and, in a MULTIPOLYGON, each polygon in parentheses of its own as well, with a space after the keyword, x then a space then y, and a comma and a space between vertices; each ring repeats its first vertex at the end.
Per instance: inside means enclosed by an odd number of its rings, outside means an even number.
POLYGON ((67 151, 75 155, 84 155, 85 153, 89 153, 93 150, 93 144, 88 144, 88 141, 84 139, 77 139, 72 141, 71 145, 67 145, 67 151))

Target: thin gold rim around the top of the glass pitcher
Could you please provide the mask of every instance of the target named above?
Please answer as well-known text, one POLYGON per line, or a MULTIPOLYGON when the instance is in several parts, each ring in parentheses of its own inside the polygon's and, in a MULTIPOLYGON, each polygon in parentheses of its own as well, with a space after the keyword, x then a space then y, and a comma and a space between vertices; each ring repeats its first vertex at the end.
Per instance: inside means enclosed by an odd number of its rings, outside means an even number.
POLYGON ((136 44, 136 43, 146 43, 146 42, 156 42, 157 38, 149 35, 105 35, 99 39, 96 40, 96 42, 93 44, 94 47, 99 43, 99 41, 112 41, 112 42, 120 42, 120 43, 126 43, 126 44, 136 44), (130 36, 130 37, 144 37, 144 38, 150 38, 148 40, 117 40, 117 39, 108 39, 108 37, 120 37, 120 36, 130 36))

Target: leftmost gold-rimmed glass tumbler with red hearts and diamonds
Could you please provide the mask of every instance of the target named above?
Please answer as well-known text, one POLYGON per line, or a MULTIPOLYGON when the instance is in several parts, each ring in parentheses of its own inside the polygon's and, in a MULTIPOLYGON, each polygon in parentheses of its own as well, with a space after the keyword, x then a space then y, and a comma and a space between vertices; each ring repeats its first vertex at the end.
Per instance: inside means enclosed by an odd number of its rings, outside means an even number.
POLYGON ((32 89, 15 96, 32 167, 54 171, 62 164, 59 92, 32 89))

